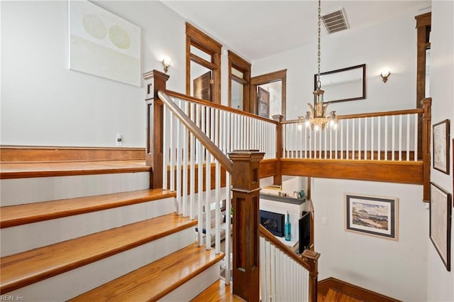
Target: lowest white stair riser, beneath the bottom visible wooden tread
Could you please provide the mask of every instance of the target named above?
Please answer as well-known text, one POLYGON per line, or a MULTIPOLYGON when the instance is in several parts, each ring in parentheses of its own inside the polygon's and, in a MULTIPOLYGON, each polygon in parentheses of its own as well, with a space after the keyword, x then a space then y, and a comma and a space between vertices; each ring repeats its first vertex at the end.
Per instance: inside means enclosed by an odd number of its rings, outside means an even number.
POLYGON ((191 301, 198 296, 202 291, 208 288, 211 284, 219 279, 219 262, 209 267, 205 271, 194 276, 191 280, 182 284, 174 291, 160 298, 160 302, 176 302, 176 301, 191 301))

